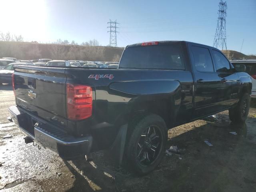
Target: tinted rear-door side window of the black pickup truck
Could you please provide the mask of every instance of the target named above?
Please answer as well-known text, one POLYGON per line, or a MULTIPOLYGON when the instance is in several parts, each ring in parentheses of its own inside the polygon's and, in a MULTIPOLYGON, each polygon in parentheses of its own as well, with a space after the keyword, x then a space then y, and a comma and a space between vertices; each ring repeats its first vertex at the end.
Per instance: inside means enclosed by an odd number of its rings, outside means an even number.
POLYGON ((192 46, 191 50, 197 71, 214 72, 212 58, 208 48, 192 46))

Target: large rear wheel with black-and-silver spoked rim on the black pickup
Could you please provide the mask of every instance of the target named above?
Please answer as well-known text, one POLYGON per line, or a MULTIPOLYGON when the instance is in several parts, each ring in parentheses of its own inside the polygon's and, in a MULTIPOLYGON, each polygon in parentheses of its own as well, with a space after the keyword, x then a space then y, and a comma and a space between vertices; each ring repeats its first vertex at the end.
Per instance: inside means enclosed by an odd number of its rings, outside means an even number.
POLYGON ((164 157, 167 128, 158 115, 140 117, 129 125, 126 157, 135 172, 145 175, 153 171, 164 157))

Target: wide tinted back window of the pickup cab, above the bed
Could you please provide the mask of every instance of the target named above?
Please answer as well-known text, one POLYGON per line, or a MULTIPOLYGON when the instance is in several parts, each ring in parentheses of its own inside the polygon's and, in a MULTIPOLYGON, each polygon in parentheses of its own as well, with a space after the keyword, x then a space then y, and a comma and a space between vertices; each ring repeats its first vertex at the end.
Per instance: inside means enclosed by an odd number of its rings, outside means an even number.
POLYGON ((120 68, 185 70, 179 45, 154 45, 126 48, 120 68))

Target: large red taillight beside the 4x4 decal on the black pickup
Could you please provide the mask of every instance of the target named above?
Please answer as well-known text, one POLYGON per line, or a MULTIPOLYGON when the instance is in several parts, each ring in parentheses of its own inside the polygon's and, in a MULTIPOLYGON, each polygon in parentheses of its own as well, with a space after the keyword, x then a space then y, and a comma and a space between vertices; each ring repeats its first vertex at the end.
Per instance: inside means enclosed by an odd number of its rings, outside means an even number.
POLYGON ((92 88, 87 85, 67 84, 67 116, 82 120, 92 116, 92 88))

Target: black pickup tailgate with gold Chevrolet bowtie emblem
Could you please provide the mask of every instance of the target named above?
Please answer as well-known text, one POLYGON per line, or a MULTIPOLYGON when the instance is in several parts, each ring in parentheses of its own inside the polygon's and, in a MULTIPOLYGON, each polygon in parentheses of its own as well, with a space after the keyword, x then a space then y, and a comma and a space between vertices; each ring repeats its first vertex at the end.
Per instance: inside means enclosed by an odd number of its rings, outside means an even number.
POLYGON ((15 68, 16 104, 36 116, 66 127, 66 75, 64 68, 15 68))

